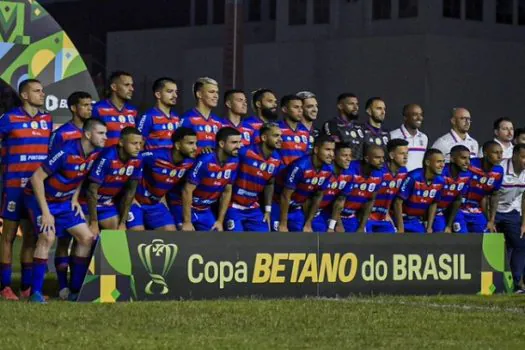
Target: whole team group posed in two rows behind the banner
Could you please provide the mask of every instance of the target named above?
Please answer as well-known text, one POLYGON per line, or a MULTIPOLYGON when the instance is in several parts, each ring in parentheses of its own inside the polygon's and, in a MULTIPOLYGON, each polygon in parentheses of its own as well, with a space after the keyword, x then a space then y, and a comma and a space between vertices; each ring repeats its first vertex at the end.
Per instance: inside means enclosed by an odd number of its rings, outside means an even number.
MULTIPOLYGON (((59 296, 75 300, 103 229, 252 232, 503 232, 516 286, 525 269, 525 130, 494 123, 495 139, 472 138, 465 108, 428 147, 419 105, 403 108, 400 128, 382 128, 386 104, 355 95, 316 129, 315 95, 279 101, 241 90, 224 94, 200 78, 195 108, 178 116, 177 85, 156 80, 153 108, 130 105, 133 78, 115 72, 110 96, 68 98, 73 118, 54 129, 37 80, 19 86, 22 106, 0 118, 2 139, 1 291, 3 299, 45 303, 44 277, 55 240, 59 296), (279 116, 282 115, 282 118, 279 116), (21 290, 11 287, 16 232, 23 234, 21 290), (70 274, 68 273, 70 271, 70 274)), ((521 291, 517 287, 517 291, 521 291)))

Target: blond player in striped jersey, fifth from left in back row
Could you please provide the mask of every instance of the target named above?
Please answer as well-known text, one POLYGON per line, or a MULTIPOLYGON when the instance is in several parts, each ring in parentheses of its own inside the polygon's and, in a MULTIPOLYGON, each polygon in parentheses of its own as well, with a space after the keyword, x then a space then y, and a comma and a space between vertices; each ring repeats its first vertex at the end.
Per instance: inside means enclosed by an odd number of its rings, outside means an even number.
POLYGON ((215 149, 215 136, 223 127, 224 120, 212 113, 219 102, 219 83, 204 77, 193 84, 193 96, 197 105, 182 115, 181 126, 197 133, 197 146, 201 153, 212 153, 215 149))

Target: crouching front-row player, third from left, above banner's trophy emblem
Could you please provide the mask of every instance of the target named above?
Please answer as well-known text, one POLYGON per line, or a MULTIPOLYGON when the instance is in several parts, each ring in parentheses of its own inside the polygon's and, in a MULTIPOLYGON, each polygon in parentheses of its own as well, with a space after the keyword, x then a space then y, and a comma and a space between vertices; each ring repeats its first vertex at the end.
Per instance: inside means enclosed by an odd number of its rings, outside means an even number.
POLYGON ((172 135, 171 149, 143 152, 144 171, 127 222, 130 230, 175 231, 175 221, 161 201, 169 191, 178 193, 197 156, 197 133, 180 127, 172 135))

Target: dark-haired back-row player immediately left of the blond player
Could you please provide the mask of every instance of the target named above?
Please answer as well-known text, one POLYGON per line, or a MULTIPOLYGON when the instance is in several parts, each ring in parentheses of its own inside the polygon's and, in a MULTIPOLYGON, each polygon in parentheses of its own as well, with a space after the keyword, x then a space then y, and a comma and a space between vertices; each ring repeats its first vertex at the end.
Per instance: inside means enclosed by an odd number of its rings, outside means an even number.
POLYGON ((179 127, 180 118, 173 110, 177 104, 177 84, 171 78, 159 78, 153 83, 155 107, 140 117, 137 129, 144 137, 144 149, 171 148, 171 135, 179 127))

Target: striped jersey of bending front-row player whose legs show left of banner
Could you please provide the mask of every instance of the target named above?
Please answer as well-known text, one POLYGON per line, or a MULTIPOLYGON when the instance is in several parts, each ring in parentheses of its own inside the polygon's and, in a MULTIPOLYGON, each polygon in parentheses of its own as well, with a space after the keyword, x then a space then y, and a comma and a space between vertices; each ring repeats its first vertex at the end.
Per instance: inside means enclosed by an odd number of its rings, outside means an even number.
MULTIPOLYGON (((84 154, 80 140, 73 140, 63 149, 49 155, 42 168, 49 175, 44 180, 46 201, 50 203, 67 202, 73 197, 78 186, 88 176, 99 151, 84 154)), ((28 182, 25 193, 33 195, 33 187, 28 182)))

